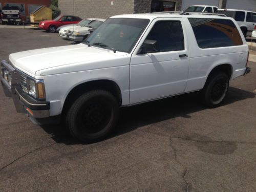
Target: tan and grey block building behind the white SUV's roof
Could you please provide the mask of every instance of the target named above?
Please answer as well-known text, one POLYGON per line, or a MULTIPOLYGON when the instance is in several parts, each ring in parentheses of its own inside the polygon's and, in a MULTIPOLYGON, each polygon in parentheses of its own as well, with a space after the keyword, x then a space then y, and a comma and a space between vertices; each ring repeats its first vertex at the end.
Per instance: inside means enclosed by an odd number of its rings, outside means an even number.
POLYGON ((255 0, 58 0, 62 14, 81 18, 108 18, 117 14, 182 11, 191 5, 256 11, 255 0))

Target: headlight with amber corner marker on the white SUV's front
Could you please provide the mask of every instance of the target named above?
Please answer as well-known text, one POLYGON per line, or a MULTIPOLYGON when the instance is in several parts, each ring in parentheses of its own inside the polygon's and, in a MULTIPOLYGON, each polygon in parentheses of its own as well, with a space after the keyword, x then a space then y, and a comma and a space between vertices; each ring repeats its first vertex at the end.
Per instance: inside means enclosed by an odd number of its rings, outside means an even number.
POLYGON ((37 99, 45 99, 45 84, 44 80, 33 80, 30 78, 27 78, 27 87, 28 87, 28 93, 34 98, 37 99))

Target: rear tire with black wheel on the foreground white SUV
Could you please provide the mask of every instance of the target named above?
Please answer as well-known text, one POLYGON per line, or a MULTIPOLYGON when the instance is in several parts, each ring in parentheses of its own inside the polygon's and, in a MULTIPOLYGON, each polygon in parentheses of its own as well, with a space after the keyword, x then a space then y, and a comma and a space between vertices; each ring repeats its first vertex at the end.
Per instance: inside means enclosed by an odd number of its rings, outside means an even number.
POLYGON ((201 98, 208 108, 216 108, 224 100, 229 87, 229 79, 226 73, 216 71, 210 74, 203 90, 201 98))

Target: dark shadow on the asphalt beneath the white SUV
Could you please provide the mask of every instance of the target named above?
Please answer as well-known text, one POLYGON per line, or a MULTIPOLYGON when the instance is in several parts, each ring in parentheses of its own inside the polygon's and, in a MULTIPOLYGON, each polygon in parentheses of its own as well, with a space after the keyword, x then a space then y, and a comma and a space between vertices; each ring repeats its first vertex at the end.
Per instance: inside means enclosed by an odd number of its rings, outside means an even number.
MULTIPOLYGON (((222 105, 248 98, 254 98, 255 94, 249 91, 230 87, 222 105)), ((120 118, 116 130, 108 138, 113 138, 131 131, 138 127, 149 125, 175 117, 191 118, 189 114, 205 110, 201 104, 198 92, 169 97, 157 101, 151 101, 135 106, 120 109, 120 118)), ((41 126, 57 143, 67 145, 80 144, 70 136, 61 125, 41 126)))

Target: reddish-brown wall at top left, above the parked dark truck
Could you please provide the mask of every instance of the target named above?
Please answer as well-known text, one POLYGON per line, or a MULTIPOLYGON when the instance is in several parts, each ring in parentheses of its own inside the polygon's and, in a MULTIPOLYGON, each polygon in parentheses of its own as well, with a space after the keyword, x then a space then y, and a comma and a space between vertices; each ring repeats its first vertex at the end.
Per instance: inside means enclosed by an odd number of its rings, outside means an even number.
POLYGON ((49 7, 51 5, 51 0, 0 0, 2 8, 5 6, 6 3, 25 4, 25 15, 22 15, 22 20, 26 20, 26 16, 29 15, 28 5, 44 5, 46 7, 49 7))

